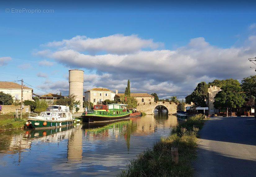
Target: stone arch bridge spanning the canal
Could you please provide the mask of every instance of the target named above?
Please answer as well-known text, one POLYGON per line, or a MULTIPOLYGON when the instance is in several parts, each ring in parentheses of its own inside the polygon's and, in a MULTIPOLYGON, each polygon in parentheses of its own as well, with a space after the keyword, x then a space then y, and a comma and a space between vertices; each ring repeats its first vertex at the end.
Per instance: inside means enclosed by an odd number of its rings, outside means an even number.
MULTIPOLYGON (((150 103, 145 103, 145 104, 140 103, 139 105, 137 105, 137 110, 144 112, 146 114, 154 114, 154 110, 155 110, 156 106, 159 106, 159 105, 166 107, 166 109, 168 110, 168 114, 177 113, 177 110, 179 110, 179 107, 180 107, 180 103, 175 104, 175 103, 171 102, 171 104, 170 104, 170 102, 158 101, 157 103, 151 102, 151 104, 150 103)), ((186 106, 191 106, 191 105, 186 104, 185 107, 186 106)))

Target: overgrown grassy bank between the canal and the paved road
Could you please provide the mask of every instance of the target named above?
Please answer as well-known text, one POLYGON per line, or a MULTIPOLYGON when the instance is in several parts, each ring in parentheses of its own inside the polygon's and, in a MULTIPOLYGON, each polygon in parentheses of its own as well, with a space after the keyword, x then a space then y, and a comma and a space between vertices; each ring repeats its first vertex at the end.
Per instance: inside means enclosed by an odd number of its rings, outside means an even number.
POLYGON ((197 133, 203 127, 203 118, 198 114, 180 123, 168 137, 132 159, 118 176, 192 176, 191 163, 196 158, 197 133), (172 162, 171 147, 178 147, 177 165, 172 162))

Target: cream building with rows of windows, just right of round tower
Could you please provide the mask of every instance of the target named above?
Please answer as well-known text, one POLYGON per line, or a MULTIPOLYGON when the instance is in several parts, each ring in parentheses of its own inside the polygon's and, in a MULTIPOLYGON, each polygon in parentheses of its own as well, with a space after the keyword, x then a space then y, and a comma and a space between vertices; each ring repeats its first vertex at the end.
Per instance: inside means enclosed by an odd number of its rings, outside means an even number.
POLYGON ((97 105, 98 102, 103 102, 105 100, 114 100, 115 92, 106 88, 94 88, 84 92, 84 101, 90 100, 93 105, 97 105))

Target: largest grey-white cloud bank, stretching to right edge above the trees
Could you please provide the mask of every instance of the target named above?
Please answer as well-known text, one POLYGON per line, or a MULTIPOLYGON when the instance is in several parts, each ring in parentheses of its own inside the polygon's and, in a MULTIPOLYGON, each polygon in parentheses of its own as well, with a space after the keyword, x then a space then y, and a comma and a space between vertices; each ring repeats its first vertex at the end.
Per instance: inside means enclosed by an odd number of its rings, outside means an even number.
MULTIPOLYGON (((78 39, 72 40, 81 40, 81 37, 75 38, 78 39)), ((184 97, 200 81, 231 77, 242 79, 255 74, 250 70, 247 60, 256 56, 255 38, 256 36, 250 36, 246 45, 241 47, 220 48, 210 45, 203 37, 198 37, 176 50, 133 50, 132 53, 128 47, 132 44, 128 43, 122 50, 117 47, 115 52, 107 50, 110 53, 98 55, 82 53, 88 50, 88 44, 87 47, 82 44, 76 46, 63 40, 48 44, 51 52, 47 53, 47 57, 66 67, 96 71, 97 74, 85 76, 84 89, 106 87, 113 91, 124 91, 127 80, 130 79, 132 92, 156 92, 161 97, 184 97)), ((87 38, 83 40, 86 41, 87 38)), ((117 43, 113 42, 118 46, 117 43)), ((90 44, 98 47, 97 43, 90 44)), ((119 44, 123 42, 119 41, 119 44)))

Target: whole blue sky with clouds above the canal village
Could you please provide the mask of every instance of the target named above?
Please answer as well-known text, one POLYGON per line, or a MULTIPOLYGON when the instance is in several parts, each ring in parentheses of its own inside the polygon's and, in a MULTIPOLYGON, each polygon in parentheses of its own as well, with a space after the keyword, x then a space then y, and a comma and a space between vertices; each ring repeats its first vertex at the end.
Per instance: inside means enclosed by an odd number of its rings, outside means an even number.
POLYGON ((68 70, 81 69, 84 91, 122 93, 130 79, 132 93, 184 98, 201 81, 255 75, 248 61, 256 56, 255 5, 1 2, 0 81, 24 79, 36 94, 68 95, 68 70))

